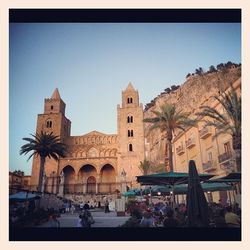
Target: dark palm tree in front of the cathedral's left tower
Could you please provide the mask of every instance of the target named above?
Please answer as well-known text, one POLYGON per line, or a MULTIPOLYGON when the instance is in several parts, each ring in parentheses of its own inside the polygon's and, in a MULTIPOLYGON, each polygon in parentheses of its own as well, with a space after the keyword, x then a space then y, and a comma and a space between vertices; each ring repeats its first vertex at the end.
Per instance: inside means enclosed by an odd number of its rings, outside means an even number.
POLYGON ((23 138, 23 140, 28 141, 28 143, 24 144, 21 147, 20 155, 26 155, 27 153, 33 151, 32 154, 29 156, 28 160, 34 155, 40 156, 38 191, 41 192, 46 157, 52 157, 53 159, 58 161, 59 157, 65 156, 66 145, 60 142, 60 138, 58 136, 53 135, 53 132, 49 134, 41 132, 40 134, 31 134, 31 136, 33 136, 34 138, 23 138))

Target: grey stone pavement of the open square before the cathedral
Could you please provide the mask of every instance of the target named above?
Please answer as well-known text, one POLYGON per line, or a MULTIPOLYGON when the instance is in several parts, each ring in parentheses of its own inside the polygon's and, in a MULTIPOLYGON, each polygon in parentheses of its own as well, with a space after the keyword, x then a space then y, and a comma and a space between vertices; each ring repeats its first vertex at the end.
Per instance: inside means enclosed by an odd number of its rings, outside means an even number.
MULTIPOLYGON (((91 227, 118 227, 124 224, 130 216, 117 216, 116 212, 104 213, 103 211, 90 210, 95 223, 91 227)), ((58 218, 61 227, 76 227, 79 219, 78 213, 61 214, 58 218)), ((49 227, 49 222, 46 222, 39 227, 49 227)))

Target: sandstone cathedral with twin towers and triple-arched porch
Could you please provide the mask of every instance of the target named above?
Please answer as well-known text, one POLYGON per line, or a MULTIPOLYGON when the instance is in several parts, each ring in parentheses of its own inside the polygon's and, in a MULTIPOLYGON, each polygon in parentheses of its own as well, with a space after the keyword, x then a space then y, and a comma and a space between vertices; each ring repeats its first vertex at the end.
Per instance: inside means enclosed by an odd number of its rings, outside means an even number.
MULTIPOLYGON (((131 83, 122 91, 117 105, 117 134, 92 131, 71 136, 71 121, 58 89, 44 101, 44 112, 37 118, 36 132, 53 132, 67 146, 66 157, 46 159, 43 191, 61 196, 112 194, 138 185, 139 165, 144 160, 143 105, 131 83)), ((36 190, 39 157, 33 158, 31 187, 36 190)))

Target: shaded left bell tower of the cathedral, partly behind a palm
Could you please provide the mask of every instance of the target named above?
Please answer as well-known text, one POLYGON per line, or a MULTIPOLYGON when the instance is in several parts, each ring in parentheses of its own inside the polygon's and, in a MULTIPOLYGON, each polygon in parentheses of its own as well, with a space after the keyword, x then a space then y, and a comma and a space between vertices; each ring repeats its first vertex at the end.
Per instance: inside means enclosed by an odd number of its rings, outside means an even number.
MULTIPOLYGON (((61 99, 58 89, 56 88, 51 98, 44 100, 44 112, 39 114, 37 118, 36 133, 41 131, 46 133, 53 132, 54 135, 60 137, 62 142, 70 136, 71 122, 65 116, 65 103, 61 99)), ((39 157, 33 157, 31 185, 38 185, 39 176, 39 157)), ((45 162, 45 174, 50 176, 52 172, 57 173, 58 162, 53 159, 46 159, 45 162)))

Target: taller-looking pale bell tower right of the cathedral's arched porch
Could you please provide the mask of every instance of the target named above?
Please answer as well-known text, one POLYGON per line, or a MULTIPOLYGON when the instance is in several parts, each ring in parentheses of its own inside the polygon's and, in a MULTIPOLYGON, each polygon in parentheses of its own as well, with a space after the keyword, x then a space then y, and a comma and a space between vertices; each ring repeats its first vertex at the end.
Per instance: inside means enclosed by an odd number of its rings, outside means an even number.
POLYGON ((122 91, 122 105, 117 106, 117 114, 119 175, 125 171, 126 181, 134 186, 135 177, 141 175, 140 161, 144 160, 144 125, 143 106, 132 83, 122 91))

